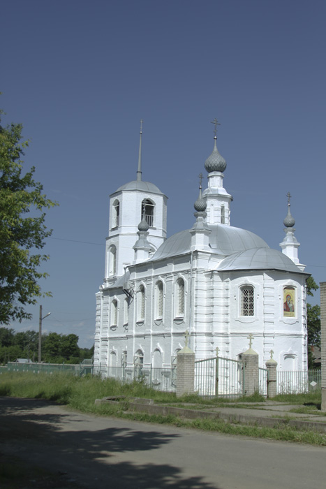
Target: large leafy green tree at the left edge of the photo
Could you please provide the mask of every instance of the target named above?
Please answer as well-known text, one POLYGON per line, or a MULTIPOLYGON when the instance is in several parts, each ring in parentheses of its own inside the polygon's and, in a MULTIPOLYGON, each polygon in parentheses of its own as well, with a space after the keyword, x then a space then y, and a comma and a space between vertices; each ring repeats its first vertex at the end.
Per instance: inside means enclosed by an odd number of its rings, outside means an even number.
MULTIPOLYGON (((40 254, 52 231, 45 226, 45 209, 56 203, 43 194, 34 180, 34 166, 23 173, 22 125, 1 126, 0 111, 0 323, 30 319, 27 305, 42 295, 39 267, 49 256, 40 254), (29 212, 33 216, 29 216, 29 212), (35 252, 36 251, 36 252, 35 252)), ((47 295, 50 295, 47 293, 47 295)))

